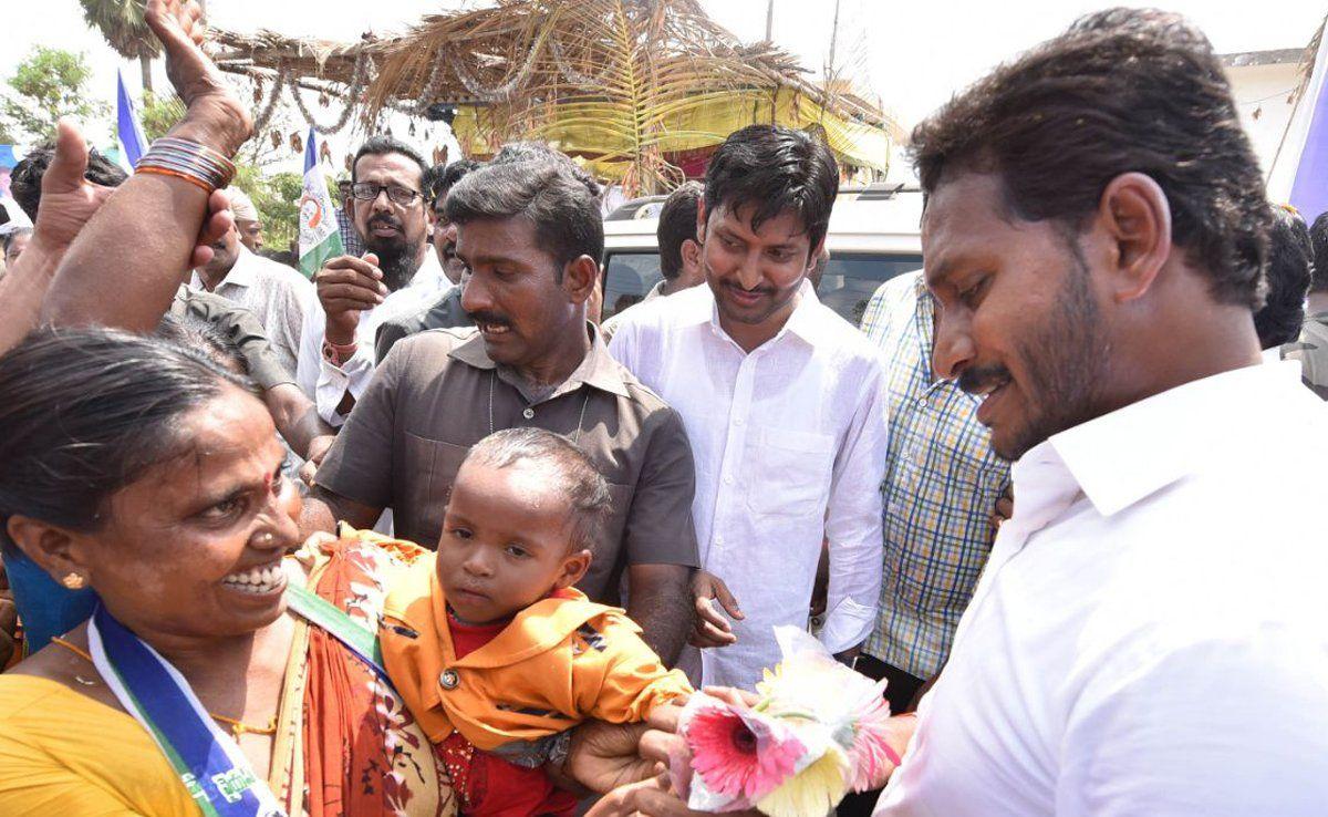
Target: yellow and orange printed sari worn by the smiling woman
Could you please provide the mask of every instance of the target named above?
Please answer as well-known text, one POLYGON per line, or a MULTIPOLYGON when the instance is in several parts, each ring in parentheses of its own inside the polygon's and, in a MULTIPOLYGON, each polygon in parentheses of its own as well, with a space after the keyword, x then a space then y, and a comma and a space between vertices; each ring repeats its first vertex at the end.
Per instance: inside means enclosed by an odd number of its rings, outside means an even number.
MULTIPOLYGON (((392 577, 421 553, 327 537, 295 558, 307 587, 376 627, 392 577)), ((456 817, 446 769, 401 697, 336 638, 295 620, 268 773, 287 814, 456 817)), ((199 808, 133 717, 56 681, 0 675, 0 814, 89 813, 199 808)))

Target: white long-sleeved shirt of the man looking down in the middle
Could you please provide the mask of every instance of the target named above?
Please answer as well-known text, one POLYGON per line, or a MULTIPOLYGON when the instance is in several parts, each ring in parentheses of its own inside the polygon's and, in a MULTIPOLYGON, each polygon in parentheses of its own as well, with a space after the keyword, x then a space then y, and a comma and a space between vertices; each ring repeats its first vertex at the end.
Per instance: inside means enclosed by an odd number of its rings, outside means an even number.
POLYGON ((875 349, 810 282, 784 329, 745 353, 709 287, 625 319, 610 352, 683 417, 696 457, 701 565, 746 618, 737 643, 701 652, 706 684, 750 689, 778 663, 772 628, 805 627, 821 542, 831 652, 871 634, 880 590, 884 379, 875 349))

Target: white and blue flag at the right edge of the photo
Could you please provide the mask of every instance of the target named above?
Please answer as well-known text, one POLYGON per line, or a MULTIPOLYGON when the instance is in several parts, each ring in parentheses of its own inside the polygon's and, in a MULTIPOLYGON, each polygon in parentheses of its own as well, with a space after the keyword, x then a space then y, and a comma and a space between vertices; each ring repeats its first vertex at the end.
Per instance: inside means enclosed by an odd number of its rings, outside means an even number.
POLYGON ((1268 201, 1289 202, 1307 222, 1328 210, 1328 36, 1320 36, 1315 70, 1287 124, 1268 174, 1268 201))

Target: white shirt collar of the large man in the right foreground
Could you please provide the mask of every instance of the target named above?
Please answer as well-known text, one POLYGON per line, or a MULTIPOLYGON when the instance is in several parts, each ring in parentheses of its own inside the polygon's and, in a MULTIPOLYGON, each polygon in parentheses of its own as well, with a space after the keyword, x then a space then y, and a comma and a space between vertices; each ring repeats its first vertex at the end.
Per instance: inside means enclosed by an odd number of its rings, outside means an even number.
POLYGON ((1058 464, 1097 511, 1110 517, 1222 456, 1232 436, 1255 432, 1301 388, 1293 363, 1186 383, 1032 448, 1015 464, 1016 486, 1042 482, 1038 472, 1058 464))

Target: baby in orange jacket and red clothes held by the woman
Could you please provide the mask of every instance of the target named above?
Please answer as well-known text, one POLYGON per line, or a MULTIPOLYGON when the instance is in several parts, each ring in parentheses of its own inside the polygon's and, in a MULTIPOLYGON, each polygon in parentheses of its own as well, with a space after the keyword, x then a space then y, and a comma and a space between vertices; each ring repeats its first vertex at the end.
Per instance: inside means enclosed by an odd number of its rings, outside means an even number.
POLYGON ((498 432, 457 473, 437 557, 388 594, 384 666, 463 814, 572 814, 542 771, 570 729, 641 721, 692 691, 622 610, 572 587, 608 513, 604 477, 568 440, 498 432))

